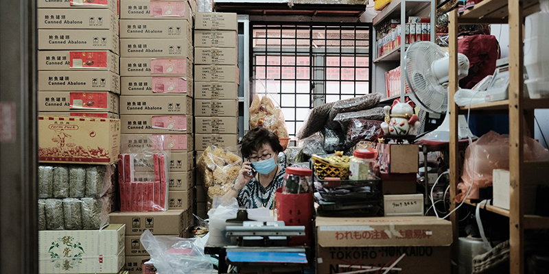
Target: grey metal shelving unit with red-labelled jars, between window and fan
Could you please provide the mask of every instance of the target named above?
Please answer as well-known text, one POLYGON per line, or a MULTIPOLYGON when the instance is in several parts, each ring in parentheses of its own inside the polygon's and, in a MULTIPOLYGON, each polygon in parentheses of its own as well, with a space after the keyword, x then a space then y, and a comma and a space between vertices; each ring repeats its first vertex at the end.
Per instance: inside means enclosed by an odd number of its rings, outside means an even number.
MULTIPOLYGON (((404 63, 404 55, 406 54, 405 30, 406 30, 406 18, 408 16, 430 16, 431 21, 431 42, 434 42, 436 38, 436 28, 434 27, 434 20, 436 15, 436 1, 435 0, 393 0, 391 1, 377 16, 372 20, 373 25, 373 41, 371 47, 373 47, 373 64, 372 64, 372 87, 374 92, 382 93, 383 97, 386 97, 385 93, 385 73, 391 69, 395 69, 397 66, 404 63), (389 53, 383 56, 377 56, 377 29, 379 25, 386 20, 399 18, 401 31, 401 45, 389 53)), ((401 90, 405 90, 404 77, 401 77, 401 90)), ((393 98, 393 97, 391 97, 393 98)), ((396 99, 398 97, 394 97, 396 99)), ((391 101, 393 100, 391 99, 391 101)))

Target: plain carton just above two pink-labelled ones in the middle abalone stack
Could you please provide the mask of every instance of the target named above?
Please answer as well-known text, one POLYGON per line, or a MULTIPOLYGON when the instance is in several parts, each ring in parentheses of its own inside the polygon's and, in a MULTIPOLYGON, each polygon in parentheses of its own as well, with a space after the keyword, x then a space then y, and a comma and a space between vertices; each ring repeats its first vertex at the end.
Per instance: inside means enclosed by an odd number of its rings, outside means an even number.
POLYGON ((186 38, 121 38, 120 56, 194 59, 193 45, 186 38))

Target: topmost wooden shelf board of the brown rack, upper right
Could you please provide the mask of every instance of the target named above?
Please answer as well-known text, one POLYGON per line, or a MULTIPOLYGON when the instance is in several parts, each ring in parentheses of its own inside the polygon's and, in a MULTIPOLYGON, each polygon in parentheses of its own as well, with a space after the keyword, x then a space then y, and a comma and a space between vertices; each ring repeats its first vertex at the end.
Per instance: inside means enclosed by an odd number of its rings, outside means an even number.
MULTIPOLYGON (((538 0, 524 0, 523 15, 526 17, 539 11, 538 0)), ((471 23, 507 23, 509 8, 504 0, 484 0, 470 10, 466 10, 458 16, 460 24, 471 23)))

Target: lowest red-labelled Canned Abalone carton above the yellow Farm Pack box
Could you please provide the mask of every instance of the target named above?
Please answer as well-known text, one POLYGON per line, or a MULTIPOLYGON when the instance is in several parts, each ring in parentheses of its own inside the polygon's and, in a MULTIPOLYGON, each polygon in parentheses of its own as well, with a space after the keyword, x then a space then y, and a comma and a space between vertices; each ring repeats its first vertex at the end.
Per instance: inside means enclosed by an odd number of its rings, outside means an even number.
POLYGON ((110 92, 38 92, 40 112, 113 112, 118 113, 118 95, 110 92))

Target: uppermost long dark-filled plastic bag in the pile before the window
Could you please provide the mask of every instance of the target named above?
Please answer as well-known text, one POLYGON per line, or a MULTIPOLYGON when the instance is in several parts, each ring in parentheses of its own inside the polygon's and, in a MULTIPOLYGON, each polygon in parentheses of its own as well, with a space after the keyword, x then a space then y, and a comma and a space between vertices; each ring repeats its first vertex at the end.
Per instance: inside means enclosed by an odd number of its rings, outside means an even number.
POLYGON ((338 114, 344 112, 358 112, 360 110, 369 110, 370 108, 375 107, 379 103, 379 100, 381 98, 381 93, 370 93, 361 97, 353 97, 336 101, 336 103, 330 110, 327 127, 331 129, 338 129, 340 127, 340 124, 334 121, 338 114))

